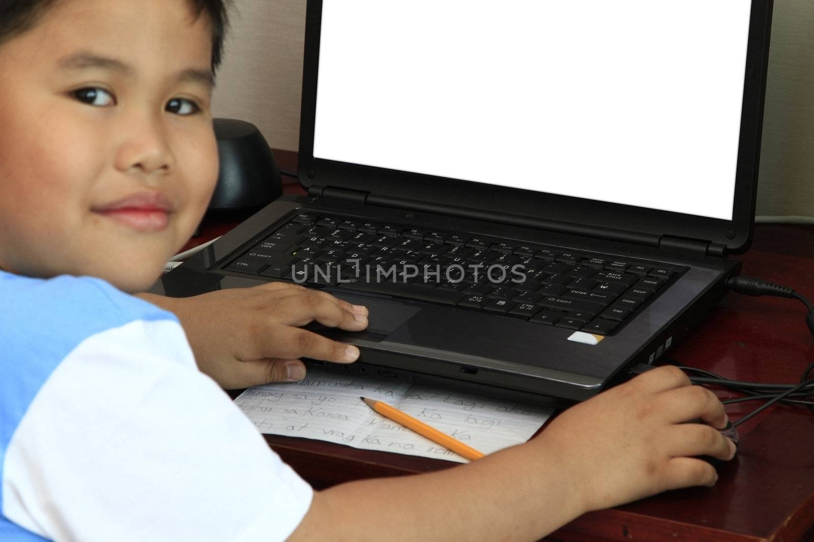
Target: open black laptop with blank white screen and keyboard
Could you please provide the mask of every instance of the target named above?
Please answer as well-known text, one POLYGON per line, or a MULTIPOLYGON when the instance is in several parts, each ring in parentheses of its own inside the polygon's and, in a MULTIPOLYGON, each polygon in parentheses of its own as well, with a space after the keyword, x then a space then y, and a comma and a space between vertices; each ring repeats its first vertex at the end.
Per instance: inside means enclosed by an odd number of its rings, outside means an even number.
MULTIPOLYGON (((585 400, 725 294, 751 242, 772 0, 309 0, 299 178, 168 273, 370 308, 326 366, 585 400)), ((317 363, 317 362, 314 362, 317 363)))

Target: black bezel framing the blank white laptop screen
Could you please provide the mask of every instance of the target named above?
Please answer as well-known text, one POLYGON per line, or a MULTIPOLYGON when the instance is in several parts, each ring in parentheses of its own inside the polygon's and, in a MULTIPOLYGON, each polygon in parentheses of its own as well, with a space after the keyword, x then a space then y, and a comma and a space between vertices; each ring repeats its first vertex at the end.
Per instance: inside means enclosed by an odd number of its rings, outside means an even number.
MULTIPOLYGON (((502 215, 533 217, 583 227, 593 225, 597 229, 698 239, 720 243, 729 252, 746 251, 751 243, 755 217, 772 7, 773 0, 751 2, 732 221, 315 158, 313 142, 322 0, 308 0, 306 12, 298 167, 300 182, 306 188, 312 185, 334 186, 416 202, 424 201, 431 194, 436 207, 447 205, 459 209, 487 209, 502 215)), ((535 167, 533 156, 502 158, 507 162, 521 160, 530 171, 535 167)))

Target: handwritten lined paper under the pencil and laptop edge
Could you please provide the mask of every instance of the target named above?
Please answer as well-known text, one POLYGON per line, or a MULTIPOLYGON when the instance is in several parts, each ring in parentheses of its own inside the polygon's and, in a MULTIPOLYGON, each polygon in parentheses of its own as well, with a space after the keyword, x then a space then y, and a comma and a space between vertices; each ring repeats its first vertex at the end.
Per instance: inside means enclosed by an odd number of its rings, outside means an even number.
POLYGON ((485 454, 526 442, 552 413, 509 400, 310 367, 301 382, 252 387, 234 402, 270 435, 466 463, 457 453, 375 413, 361 396, 391 404, 485 454))

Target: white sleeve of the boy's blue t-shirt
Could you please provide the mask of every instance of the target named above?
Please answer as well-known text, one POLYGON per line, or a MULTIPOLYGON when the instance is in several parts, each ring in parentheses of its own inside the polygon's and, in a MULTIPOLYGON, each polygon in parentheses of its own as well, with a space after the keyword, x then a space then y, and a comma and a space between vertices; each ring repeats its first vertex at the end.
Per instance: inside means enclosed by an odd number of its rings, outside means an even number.
POLYGON ((80 343, 25 413, 4 474, 6 517, 58 542, 285 540, 313 496, 173 321, 80 343))

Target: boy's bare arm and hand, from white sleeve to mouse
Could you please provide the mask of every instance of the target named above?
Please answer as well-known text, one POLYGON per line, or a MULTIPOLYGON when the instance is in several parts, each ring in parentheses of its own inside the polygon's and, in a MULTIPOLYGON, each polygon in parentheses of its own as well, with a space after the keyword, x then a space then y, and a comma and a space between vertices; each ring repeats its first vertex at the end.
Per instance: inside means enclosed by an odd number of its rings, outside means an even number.
POLYGON ((711 486, 716 470, 692 456, 732 458, 725 424, 711 391, 654 369, 466 466, 318 492, 289 540, 538 540, 590 510, 711 486))

